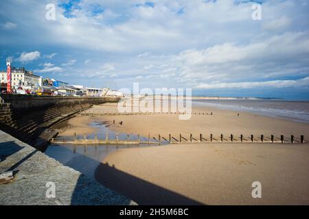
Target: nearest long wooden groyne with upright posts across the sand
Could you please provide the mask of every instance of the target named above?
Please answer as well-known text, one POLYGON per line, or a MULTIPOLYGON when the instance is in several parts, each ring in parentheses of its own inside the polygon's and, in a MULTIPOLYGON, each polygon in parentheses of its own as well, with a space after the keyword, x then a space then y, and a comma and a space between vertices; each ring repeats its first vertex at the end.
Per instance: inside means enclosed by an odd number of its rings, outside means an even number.
POLYGON ((130 139, 130 135, 126 136, 126 139, 119 140, 119 135, 116 133, 115 139, 108 138, 108 133, 105 134, 105 139, 99 139, 97 133, 95 133, 95 138, 89 139, 86 135, 83 136, 82 139, 78 139, 76 133, 71 138, 52 138, 52 144, 198 144, 198 143, 290 143, 290 144, 306 144, 308 142, 305 141, 305 137, 301 136, 254 136, 251 134, 250 136, 244 136, 240 134, 240 136, 235 136, 231 134, 230 136, 224 136, 220 134, 220 136, 215 136, 214 134, 210 133, 207 136, 204 136, 200 133, 198 136, 192 135, 185 136, 179 133, 179 136, 172 136, 168 134, 168 136, 163 136, 158 134, 157 136, 150 136, 148 138, 140 137, 137 135, 137 139, 130 139))

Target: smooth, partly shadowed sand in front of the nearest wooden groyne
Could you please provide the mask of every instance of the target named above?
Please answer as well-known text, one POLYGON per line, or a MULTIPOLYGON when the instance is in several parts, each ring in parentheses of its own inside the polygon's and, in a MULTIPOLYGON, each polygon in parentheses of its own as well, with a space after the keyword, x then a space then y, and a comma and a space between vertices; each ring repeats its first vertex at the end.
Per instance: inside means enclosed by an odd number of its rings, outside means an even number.
POLYGON ((309 205, 308 157, 308 145, 152 146, 115 151, 95 174, 139 205, 309 205))

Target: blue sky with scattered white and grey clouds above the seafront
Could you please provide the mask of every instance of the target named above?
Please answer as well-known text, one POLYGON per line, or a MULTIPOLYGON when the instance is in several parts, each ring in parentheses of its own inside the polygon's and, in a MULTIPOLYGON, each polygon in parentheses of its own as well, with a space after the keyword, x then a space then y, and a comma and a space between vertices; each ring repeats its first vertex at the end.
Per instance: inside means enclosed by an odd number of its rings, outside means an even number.
POLYGON ((9 0, 0 69, 12 56, 73 85, 309 100, 308 12, 308 0, 9 0))

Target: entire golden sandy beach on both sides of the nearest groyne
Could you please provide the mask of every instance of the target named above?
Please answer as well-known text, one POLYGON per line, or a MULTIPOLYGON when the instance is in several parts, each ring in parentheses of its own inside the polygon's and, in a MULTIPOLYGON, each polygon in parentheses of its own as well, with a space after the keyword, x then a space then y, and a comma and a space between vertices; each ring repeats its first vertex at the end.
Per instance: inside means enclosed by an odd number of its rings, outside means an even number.
MULTIPOLYGON (((88 112, 117 108, 98 105, 88 112)), ((192 133, 198 138, 203 133, 209 139, 213 133, 218 140, 223 133, 225 143, 120 149, 102 160, 95 177, 140 205, 309 205, 308 144, 229 143, 231 133, 238 142, 240 134, 247 139, 264 134, 266 140, 271 134, 277 138, 283 134, 287 140, 293 134, 297 141, 304 135, 308 142, 308 123, 207 107, 193 107, 192 112, 190 120, 170 114, 76 116, 60 135, 94 132, 87 127, 92 121, 106 122, 111 131, 142 136, 160 133, 167 138, 171 133, 179 138, 182 133, 188 138, 192 133), (262 198, 251 196, 254 181, 262 183, 262 198)))

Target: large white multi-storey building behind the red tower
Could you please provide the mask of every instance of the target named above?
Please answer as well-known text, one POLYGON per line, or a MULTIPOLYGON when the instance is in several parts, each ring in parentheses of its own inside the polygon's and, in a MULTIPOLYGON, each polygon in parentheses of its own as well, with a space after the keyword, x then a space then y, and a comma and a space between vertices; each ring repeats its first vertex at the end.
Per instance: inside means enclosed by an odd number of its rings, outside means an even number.
MULTIPOLYGON (((0 83, 7 83, 7 73, 0 72, 0 83)), ((25 68, 11 69, 11 86, 42 86, 42 77, 34 75, 31 71, 25 68)))

